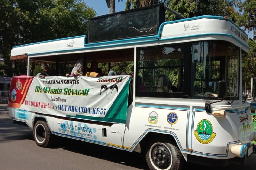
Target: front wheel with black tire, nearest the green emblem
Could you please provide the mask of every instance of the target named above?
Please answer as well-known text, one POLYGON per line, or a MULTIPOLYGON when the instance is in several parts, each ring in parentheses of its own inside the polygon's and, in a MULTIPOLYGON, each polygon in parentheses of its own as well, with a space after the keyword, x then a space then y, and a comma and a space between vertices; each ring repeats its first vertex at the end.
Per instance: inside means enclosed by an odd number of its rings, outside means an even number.
POLYGON ((184 158, 177 146, 153 142, 147 147, 146 161, 151 170, 181 170, 184 158))

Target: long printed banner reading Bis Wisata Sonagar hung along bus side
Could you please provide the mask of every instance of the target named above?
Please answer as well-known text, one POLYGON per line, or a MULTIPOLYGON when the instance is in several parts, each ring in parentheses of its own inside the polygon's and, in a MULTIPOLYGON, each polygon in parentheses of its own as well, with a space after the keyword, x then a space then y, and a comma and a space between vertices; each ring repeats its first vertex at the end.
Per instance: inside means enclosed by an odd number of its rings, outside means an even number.
POLYGON ((130 76, 14 77, 9 107, 125 123, 130 76))

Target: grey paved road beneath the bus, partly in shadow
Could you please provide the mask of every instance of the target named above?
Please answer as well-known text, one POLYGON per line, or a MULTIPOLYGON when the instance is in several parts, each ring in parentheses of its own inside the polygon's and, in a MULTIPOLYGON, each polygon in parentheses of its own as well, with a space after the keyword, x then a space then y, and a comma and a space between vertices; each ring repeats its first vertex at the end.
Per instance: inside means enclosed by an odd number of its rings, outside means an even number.
MULTIPOLYGON (((247 166, 231 162, 223 170, 252 170, 256 167, 256 154, 247 166)), ((187 164, 184 168, 216 168, 187 164)), ((143 155, 96 144, 58 137, 53 148, 38 147, 32 130, 15 125, 6 114, 6 105, 0 104, 0 170, 120 170, 148 169, 143 155)))

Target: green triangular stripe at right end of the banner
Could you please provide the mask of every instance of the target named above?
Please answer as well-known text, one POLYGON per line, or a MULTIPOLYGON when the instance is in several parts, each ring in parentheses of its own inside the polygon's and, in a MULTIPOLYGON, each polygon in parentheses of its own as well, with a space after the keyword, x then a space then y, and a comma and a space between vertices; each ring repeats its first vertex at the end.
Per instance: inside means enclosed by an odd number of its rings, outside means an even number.
POLYGON ((66 115, 66 117, 125 124, 126 115, 127 115, 130 80, 131 78, 129 78, 129 80, 124 85, 124 88, 121 90, 121 92, 119 92, 119 95, 117 96, 116 100, 113 102, 111 107, 109 108, 105 117, 92 117, 92 116, 85 116, 85 115, 76 115, 76 116, 66 115))

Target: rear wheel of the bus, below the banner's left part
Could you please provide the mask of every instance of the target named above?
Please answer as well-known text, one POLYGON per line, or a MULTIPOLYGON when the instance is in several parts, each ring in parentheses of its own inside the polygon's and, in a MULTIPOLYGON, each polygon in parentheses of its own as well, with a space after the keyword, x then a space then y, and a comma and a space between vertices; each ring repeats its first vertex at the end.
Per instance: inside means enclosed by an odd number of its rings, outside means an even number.
POLYGON ((34 129, 33 135, 35 142, 38 146, 49 147, 52 144, 52 133, 49 129, 49 126, 44 121, 37 121, 34 129))

